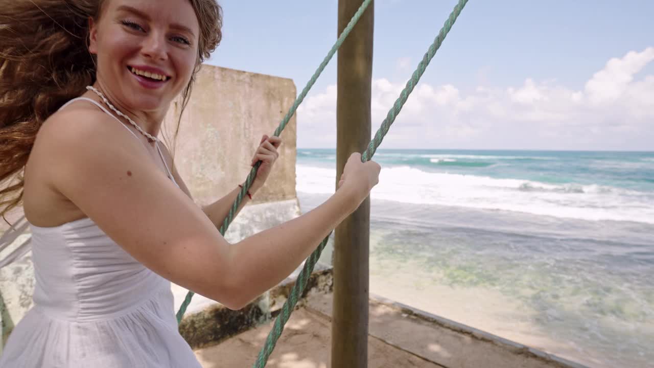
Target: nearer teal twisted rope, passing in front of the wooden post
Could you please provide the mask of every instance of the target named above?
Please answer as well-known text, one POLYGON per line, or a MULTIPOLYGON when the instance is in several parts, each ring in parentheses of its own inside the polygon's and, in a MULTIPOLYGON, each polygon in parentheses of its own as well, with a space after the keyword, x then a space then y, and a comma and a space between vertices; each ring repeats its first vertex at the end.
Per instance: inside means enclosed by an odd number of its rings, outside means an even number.
MULTIPOLYGON (((379 130, 377 130, 377 134, 375 134, 375 138, 373 138, 370 141, 370 144, 368 145, 368 149, 366 149, 364 154, 361 156, 362 162, 366 162, 370 160, 370 158, 372 158, 372 156, 375 155, 375 151, 377 151, 377 147, 381 145, 381 141, 388 133, 388 129, 395 121, 395 118, 400 113, 400 110, 402 110, 402 106, 404 106, 404 103, 407 101, 407 98, 409 98, 409 94, 411 94, 411 91, 413 91, 413 88, 415 88, 416 84, 422 77, 422 74, 424 73, 424 70, 426 69, 427 65, 429 65, 429 62, 432 60, 432 58, 434 58, 436 51, 438 50, 438 48, 440 48, 441 44, 443 43, 443 40, 445 39, 445 36, 447 36, 447 33, 449 33, 454 22, 456 21, 456 18, 458 18, 458 15, 461 13, 461 10, 463 10, 463 7, 466 6, 466 3, 468 3, 468 0, 459 0, 458 4, 456 4, 454 10, 449 15, 449 18, 447 18, 447 20, 445 21, 445 25, 443 26, 443 28, 441 28, 441 31, 439 31, 438 36, 436 36, 434 43, 432 43, 432 45, 429 47, 427 53, 424 54, 424 57, 422 58, 420 64, 418 64, 416 71, 413 72, 413 75, 411 75, 411 79, 409 79, 406 86, 404 87, 404 90, 402 90, 402 93, 400 93, 400 98, 398 98, 398 100, 395 101, 393 107, 390 109, 390 111, 388 111, 388 115, 386 116, 386 119, 384 119, 384 121, 381 123, 379 130)), ((302 295, 304 288, 307 285, 307 280, 309 279, 309 275, 311 274, 311 272, 313 272, 313 268, 315 267, 316 262, 320 258, 320 253, 322 253, 322 249, 324 249, 328 240, 329 240, 329 235, 326 238, 324 238, 324 240, 322 240, 320 246, 318 246, 318 248, 313 253, 311 253, 309 258, 305 261, 304 267, 300 272, 300 276, 298 276, 298 282, 296 282, 296 284, 293 285, 293 289, 291 290, 291 293, 288 296, 286 303, 284 303, 284 306, 282 307, 279 316, 275 320, 275 325, 273 325, 273 329, 268 334, 264 347, 259 352, 259 356, 256 359, 256 363, 254 363, 253 366, 254 368, 264 368, 266 366, 266 362, 268 361, 270 354, 273 352, 273 349, 275 348, 275 344, 277 344, 277 340, 279 339, 282 331, 284 330, 284 325, 286 324, 286 322, 288 322, 288 318, 290 317, 290 313, 295 307, 295 304, 298 303, 298 297, 302 295)))

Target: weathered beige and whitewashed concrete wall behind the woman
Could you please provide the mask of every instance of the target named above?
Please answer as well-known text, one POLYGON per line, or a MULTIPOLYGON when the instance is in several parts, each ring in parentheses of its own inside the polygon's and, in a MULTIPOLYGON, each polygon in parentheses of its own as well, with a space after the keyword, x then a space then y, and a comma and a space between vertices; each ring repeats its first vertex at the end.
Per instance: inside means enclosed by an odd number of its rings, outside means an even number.
MULTIPOLYGON (((243 183, 262 135, 274 132, 295 98, 296 87, 290 79, 203 65, 182 115, 174 151, 177 170, 198 204, 213 202, 243 183)), ((179 110, 179 102, 171 105, 162 130, 164 141, 172 141, 179 110)), ((300 215, 295 192, 295 117, 281 138, 283 144, 272 174, 230 226, 228 241, 237 242, 300 215)), ((5 229, 6 225, 0 224, 0 233, 5 229)), ((5 249, 0 257, 11 250, 5 249)), ((31 307, 33 289, 31 253, 0 270, 4 338, 31 307)), ((186 290, 173 285, 173 293, 175 308, 179 308, 186 290)), ((187 315, 211 304, 215 302, 196 295, 187 315)))

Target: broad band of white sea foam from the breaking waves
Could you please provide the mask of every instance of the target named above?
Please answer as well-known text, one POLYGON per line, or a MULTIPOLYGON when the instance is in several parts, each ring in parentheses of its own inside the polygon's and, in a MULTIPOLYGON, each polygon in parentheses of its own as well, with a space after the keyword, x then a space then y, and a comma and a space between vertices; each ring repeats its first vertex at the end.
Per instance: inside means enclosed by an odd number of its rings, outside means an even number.
MULTIPOLYGON (((298 164, 299 192, 334 193, 336 170, 298 164)), ((371 198, 504 210, 591 221, 654 223, 651 193, 606 185, 552 184, 481 175, 425 172, 408 166, 383 168, 371 198)))

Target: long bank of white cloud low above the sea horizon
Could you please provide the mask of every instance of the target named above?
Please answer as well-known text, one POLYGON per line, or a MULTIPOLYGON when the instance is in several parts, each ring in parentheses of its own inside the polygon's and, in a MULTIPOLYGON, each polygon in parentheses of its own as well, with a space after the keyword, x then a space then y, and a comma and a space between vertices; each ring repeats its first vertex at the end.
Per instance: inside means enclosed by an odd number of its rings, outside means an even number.
MULTIPOLYGON (((636 78, 654 48, 612 58, 583 90, 526 79, 506 89, 420 83, 382 147, 654 149, 654 75, 636 78)), ((373 134, 404 83, 372 84, 373 134)), ((298 109, 298 146, 336 145, 336 86, 298 109)))

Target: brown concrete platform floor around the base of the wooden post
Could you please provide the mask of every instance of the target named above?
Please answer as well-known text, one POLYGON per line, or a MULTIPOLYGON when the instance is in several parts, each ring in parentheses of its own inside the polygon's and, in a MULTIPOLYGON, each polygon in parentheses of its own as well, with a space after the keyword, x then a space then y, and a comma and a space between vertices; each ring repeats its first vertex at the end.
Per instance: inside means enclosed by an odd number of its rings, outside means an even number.
MULTIPOLYGON (((332 294, 309 295, 286 324, 267 367, 327 368, 331 355, 332 294)), ((205 368, 251 367, 272 323, 196 351, 205 368)), ((521 344, 458 325, 402 304, 370 301, 368 367, 582 367, 521 344)))

